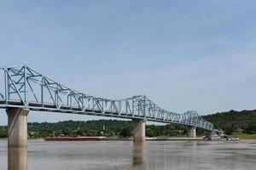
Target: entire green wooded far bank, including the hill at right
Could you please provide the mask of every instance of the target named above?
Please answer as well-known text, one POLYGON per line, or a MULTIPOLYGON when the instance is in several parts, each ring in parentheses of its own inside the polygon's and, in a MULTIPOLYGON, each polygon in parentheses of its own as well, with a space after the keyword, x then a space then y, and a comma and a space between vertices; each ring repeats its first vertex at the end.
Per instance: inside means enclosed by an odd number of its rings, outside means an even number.
MULTIPOLYGON (((227 134, 236 131, 256 133, 256 111, 227 111, 202 116, 212 122, 215 128, 224 130, 227 134)), ((132 125, 129 121, 98 120, 98 121, 64 121, 64 122, 28 122, 30 138, 45 138, 48 136, 106 136, 129 138, 132 136, 132 125)), ((187 134, 188 127, 183 125, 147 125, 147 137, 179 137, 187 134)), ((207 132, 197 129, 198 135, 207 132)), ((8 136, 8 127, 0 127, 0 138, 8 136)))

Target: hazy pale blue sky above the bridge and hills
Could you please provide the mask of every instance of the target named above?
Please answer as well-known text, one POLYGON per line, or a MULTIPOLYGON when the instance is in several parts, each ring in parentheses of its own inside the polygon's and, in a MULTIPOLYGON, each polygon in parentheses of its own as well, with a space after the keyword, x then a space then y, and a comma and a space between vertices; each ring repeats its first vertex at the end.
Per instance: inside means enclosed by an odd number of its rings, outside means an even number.
MULTIPOLYGON (((1 1, 0 65, 26 64, 110 99, 147 94, 178 113, 253 110, 255 8, 254 0, 1 1)), ((31 111, 28 121, 89 118, 31 111)))

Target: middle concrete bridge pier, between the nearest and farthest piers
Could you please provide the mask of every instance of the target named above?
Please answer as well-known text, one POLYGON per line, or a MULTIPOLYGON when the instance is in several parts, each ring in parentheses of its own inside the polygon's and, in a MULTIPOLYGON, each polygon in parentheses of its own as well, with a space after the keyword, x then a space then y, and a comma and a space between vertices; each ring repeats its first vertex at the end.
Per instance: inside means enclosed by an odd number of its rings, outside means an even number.
POLYGON ((146 141, 146 123, 143 119, 132 119, 133 142, 146 141))

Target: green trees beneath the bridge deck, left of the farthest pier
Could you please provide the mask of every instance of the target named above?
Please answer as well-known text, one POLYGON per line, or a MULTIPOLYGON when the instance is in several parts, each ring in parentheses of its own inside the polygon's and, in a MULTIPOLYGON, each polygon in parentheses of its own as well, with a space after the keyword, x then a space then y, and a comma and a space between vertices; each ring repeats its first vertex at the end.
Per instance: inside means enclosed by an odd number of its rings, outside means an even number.
MULTIPOLYGON (((8 127, 0 127, 0 138, 8 136, 8 127)), ((45 138, 49 136, 106 136, 129 138, 132 136, 132 124, 130 121, 98 120, 98 121, 64 121, 64 122, 28 122, 28 135, 30 138, 45 138)), ((185 135, 187 127, 168 125, 147 125, 146 135, 180 136, 185 135)))

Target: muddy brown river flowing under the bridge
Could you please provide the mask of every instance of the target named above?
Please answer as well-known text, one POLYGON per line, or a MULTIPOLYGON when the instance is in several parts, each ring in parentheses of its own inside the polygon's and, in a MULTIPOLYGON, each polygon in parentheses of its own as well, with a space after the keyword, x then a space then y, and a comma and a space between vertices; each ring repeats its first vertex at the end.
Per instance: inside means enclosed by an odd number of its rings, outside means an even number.
POLYGON ((256 140, 45 142, 7 148, 0 140, 1 170, 252 170, 256 140))

